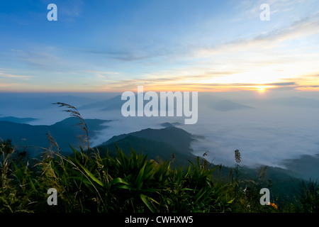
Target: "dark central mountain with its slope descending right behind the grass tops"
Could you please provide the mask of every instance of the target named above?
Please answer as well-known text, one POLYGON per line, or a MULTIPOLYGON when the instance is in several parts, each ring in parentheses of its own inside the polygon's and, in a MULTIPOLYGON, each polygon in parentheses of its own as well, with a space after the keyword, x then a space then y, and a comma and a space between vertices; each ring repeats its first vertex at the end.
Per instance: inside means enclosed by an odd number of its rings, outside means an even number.
MULTIPOLYGON (((108 150, 110 155, 116 155, 116 145, 119 149, 123 150, 125 155, 130 155, 131 148, 133 148, 136 153, 147 155, 149 159, 153 160, 157 160, 159 157, 161 160, 172 161, 172 154, 174 154, 174 162, 171 164, 172 167, 180 165, 188 167, 189 160, 194 163, 196 162, 196 156, 191 153, 190 148, 191 141, 193 140, 194 135, 169 125, 167 128, 162 129, 147 128, 134 133, 116 135, 97 148, 100 154, 108 150)), ((216 165, 211 163, 211 166, 214 167, 216 165)), ((301 179, 298 178, 298 172, 284 170, 279 167, 267 166, 263 168, 266 171, 262 185, 264 185, 263 187, 269 187, 274 198, 279 196, 280 199, 289 199, 296 190, 298 190, 301 182, 301 179)), ((217 167, 213 172, 213 177, 215 177, 215 179, 223 179, 227 182, 230 180, 230 172, 233 171, 232 169, 233 167, 217 167)), ((247 185, 248 189, 254 187, 255 184, 251 180, 259 182, 258 169, 258 167, 240 168, 240 180, 242 181, 243 187, 245 187, 245 185, 247 185), (247 181, 245 181, 246 179, 247 181)), ((234 177, 234 171, 233 174, 234 177)))

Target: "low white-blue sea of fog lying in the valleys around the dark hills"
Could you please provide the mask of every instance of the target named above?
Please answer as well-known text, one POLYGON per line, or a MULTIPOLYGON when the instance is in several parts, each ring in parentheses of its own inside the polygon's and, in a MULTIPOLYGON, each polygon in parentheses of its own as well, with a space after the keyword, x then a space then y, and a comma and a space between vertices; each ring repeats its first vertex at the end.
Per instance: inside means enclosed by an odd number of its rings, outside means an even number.
MULTIPOLYGON (((231 96, 226 97, 231 99, 231 96)), ((96 99, 86 99, 89 104, 96 99)), ((1 100, 0 100, 1 101, 1 100)), ((198 107, 198 121, 184 124, 184 117, 123 117, 121 110, 100 111, 84 109, 83 118, 112 120, 92 138, 91 146, 99 145, 113 135, 140 131, 144 128, 163 128, 162 123, 179 123, 177 127, 196 135, 191 146, 194 154, 203 155, 215 164, 233 166, 234 150, 240 150, 242 165, 270 165, 285 167, 283 161, 298 159, 301 155, 319 153, 319 106, 283 106, 261 99, 237 99, 247 109, 218 111, 205 102, 198 107)), ((101 106, 103 107, 103 106, 101 106)), ((69 117, 56 105, 42 108, 11 106, 1 109, 1 116, 38 118, 33 125, 50 125, 69 117)))

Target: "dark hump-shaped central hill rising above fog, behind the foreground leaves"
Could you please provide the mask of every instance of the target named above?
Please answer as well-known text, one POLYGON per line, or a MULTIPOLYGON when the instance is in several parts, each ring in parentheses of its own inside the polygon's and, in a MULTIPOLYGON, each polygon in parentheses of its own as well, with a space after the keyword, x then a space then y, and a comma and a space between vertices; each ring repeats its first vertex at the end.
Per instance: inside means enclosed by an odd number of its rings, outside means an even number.
POLYGON ((130 155, 130 148, 133 148, 136 153, 147 154, 154 160, 157 157, 162 160, 172 160, 172 154, 174 154, 176 165, 189 165, 188 160, 196 158, 191 153, 193 140, 195 140, 193 135, 171 125, 161 129, 146 128, 133 133, 116 135, 97 148, 100 151, 107 149, 110 154, 115 154, 117 145, 127 155, 130 155))

